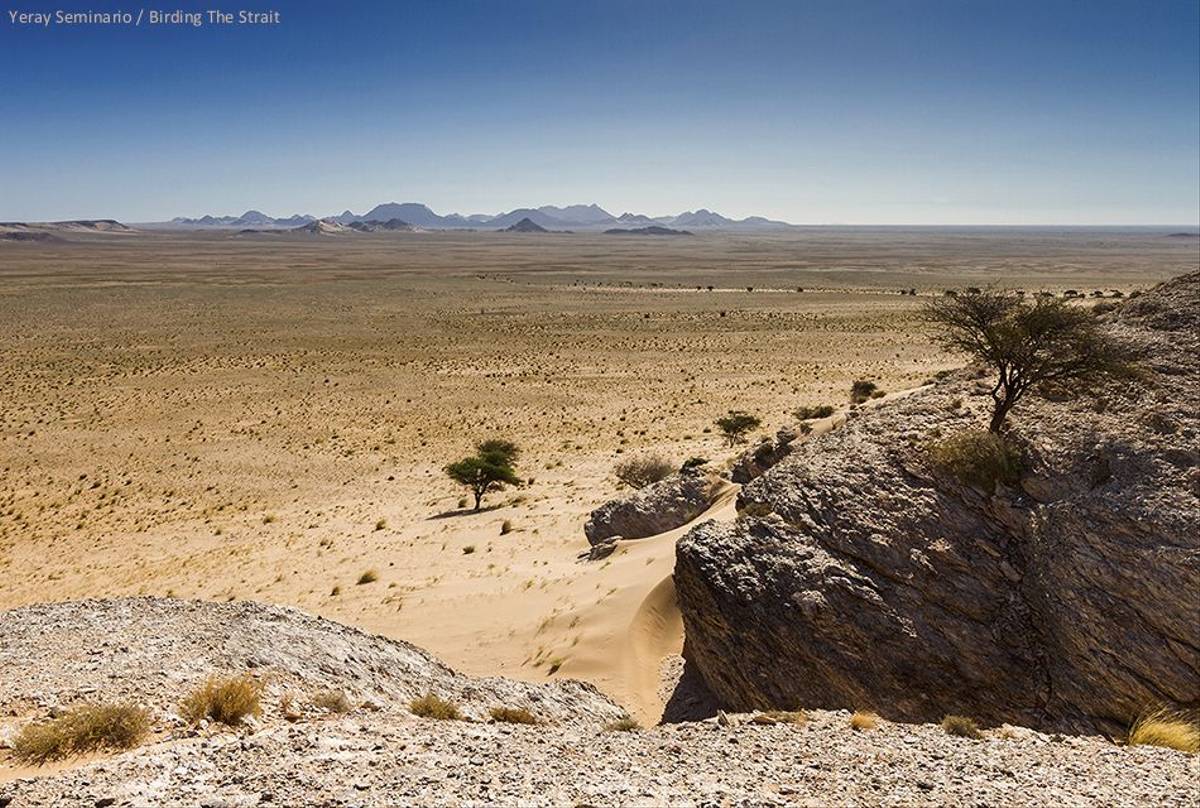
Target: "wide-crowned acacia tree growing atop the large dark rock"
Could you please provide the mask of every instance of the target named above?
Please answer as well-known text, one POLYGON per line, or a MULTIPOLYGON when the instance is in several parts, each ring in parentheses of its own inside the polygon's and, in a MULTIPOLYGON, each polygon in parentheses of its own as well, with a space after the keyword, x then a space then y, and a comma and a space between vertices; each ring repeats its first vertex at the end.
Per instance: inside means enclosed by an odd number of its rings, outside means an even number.
POLYGON ((1133 372, 1132 352, 1105 334, 1096 316, 1056 298, 1025 300, 992 289, 936 298, 925 318, 943 348, 970 354, 996 377, 988 430, 1000 432, 1028 390, 1093 389, 1133 372))

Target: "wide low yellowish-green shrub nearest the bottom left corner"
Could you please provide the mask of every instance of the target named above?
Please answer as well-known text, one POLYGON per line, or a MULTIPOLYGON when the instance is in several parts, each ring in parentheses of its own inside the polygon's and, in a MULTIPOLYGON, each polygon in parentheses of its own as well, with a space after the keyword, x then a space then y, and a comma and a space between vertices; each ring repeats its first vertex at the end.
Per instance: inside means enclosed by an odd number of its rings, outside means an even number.
POLYGON ((131 749, 150 731, 150 713, 130 704, 80 705, 48 722, 26 724, 12 742, 13 756, 41 766, 102 749, 131 749))

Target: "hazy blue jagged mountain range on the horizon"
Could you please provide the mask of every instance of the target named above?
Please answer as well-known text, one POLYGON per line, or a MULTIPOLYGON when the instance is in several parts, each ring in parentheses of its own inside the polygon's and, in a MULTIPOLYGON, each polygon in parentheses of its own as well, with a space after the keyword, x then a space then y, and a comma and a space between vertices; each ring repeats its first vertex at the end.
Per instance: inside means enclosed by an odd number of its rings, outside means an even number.
MULTIPOLYGON (((305 227, 316 221, 324 221, 344 227, 354 227, 360 231, 373 229, 490 229, 505 231, 515 225, 528 222, 546 231, 607 231, 612 228, 643 228, 666 227, 688 228, 691 231, 704 229, 767 229, 778 227, 792 227, 787 222, 780 222, 762 216, 749 216, 746 219, 728 219, 715 211, 701 208, 700 210, 686 210, 677 216, 646 216, 643 214, 624 213, 613 216, 607 210, 596 204, 568 205, 558 208, 554 205, 542 205, 541 208, 517 208, 500 214, 446 214, 433 213, 427 205, 418 202, 386 202, 376 205, 364 214, 355 214, 350 210, 342 211, 336 216, 312 216, 308 214, 295 214, 287 217, 276 219, 268 216, 259 210, 247 210, 240 216, 212 216, 205 215, 197 219, 179 216, 169 222, 155 222, 160 227, 176 227, 188 229, 202 228, 252 228, 294 229, 305 227), (380 225, 392 223, 391 227, 380 225), (406 227, 398 227, 397 225, 406 227)), ((522 228, 529 232, 528 225, 522 228)))

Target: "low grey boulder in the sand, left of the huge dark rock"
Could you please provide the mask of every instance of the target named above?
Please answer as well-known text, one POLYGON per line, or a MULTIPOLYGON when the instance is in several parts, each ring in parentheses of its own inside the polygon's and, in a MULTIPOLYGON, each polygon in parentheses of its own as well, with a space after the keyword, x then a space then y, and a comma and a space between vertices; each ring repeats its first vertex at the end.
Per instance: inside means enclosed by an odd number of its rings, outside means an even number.
POLYGON ((595 545, 672 531, 704 513, 719 486, 719 478, 703 468, 677 472, 628 497, 600 505, 588 516, 583 533, 595 545))

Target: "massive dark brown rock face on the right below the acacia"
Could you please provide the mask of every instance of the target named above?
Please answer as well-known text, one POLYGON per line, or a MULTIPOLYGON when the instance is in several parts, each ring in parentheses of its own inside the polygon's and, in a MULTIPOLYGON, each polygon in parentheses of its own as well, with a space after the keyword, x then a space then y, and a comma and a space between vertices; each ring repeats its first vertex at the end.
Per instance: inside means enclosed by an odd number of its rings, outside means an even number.
POLYGON ((947 379, 796 444, 677 547, 688 647, 726 706, 1120 731, 1200 705, 1200 274, 1108 316, 1145 383, 1030 399, 1030 468, 984 492, 925 447, 986 424, 947 379))

